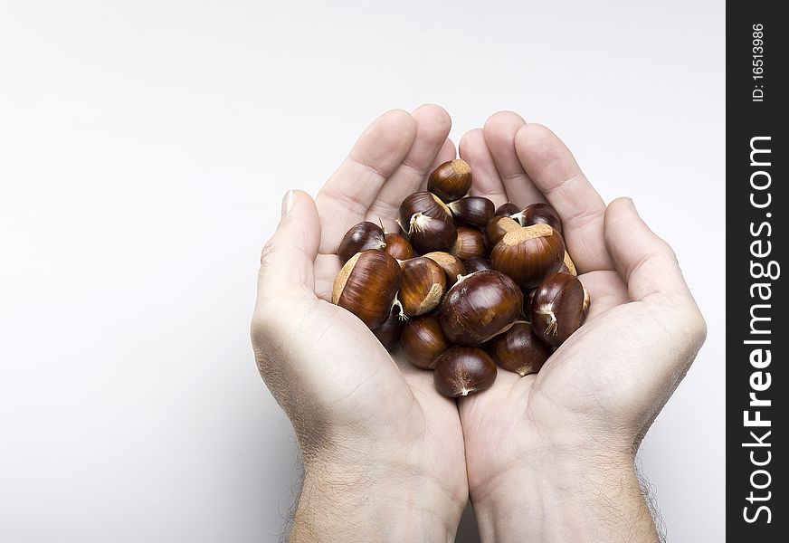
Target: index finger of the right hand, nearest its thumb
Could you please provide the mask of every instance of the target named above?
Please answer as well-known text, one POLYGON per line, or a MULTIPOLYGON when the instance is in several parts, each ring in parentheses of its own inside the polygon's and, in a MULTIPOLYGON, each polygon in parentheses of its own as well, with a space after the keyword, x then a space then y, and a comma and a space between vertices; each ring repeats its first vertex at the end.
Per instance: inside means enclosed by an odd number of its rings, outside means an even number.
POLYGON ((549 129, 527 124, 515 136, 518 158, 562 219, 567 251, 579 272, 613 270, 605 248, 605 204, 570 150, 549 129))

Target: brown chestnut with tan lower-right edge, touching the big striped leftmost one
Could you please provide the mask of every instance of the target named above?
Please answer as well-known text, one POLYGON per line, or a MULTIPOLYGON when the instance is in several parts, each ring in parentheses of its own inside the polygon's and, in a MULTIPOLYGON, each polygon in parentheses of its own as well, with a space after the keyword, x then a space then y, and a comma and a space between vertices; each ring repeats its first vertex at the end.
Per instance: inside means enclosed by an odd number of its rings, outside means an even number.
POLYGON ((403 281, 397 300, 406 317, 416 317, 432 311, 446 291, 447 278, 443 268, 435 261, 417 256, 400 263, 403 281))

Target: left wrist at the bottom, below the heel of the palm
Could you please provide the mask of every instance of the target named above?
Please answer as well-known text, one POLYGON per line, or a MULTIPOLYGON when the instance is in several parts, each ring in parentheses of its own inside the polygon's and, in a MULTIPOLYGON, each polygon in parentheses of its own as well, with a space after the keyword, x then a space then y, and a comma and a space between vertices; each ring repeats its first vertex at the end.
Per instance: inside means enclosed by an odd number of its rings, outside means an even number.
POLYGON ((290 541, 452 542, 465 501, 407 465, 311 459, 290 541))

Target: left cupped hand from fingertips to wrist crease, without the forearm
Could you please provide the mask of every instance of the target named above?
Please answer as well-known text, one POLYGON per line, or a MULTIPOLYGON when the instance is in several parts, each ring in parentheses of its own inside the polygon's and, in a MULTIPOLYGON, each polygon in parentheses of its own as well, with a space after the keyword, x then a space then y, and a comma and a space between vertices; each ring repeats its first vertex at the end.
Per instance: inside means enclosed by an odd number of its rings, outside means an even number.
POLYGON ((343 234, 362 220, 396 232, 400 202, 455 157, 449 130, 449 117, 435 106, 413 116, 390 111, 359 138, 314 204, 301 197, 286 210, 264 250, 252 335, 261 375, 303 453, 328 442, 346 462, 404 467, 435 481, 460 510, 468 486, 454 402, 435 391, 431 372, 391 357, 360 320, 329 301, 343 234))

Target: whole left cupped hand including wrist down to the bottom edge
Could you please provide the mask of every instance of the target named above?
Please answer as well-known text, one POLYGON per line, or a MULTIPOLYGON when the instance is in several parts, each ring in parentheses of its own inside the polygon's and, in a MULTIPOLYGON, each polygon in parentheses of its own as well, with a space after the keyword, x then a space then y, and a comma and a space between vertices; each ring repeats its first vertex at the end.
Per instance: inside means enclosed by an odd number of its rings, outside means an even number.
POLYGON ((454 402, 330 303, 353 224, 395 219, 455 157, 444 110, 395 110, 366 129, 316 201, 291 192, 261 257, 252 344, 296 432, 305 481, 293 541, 453 541, 468 500, 454 402))

